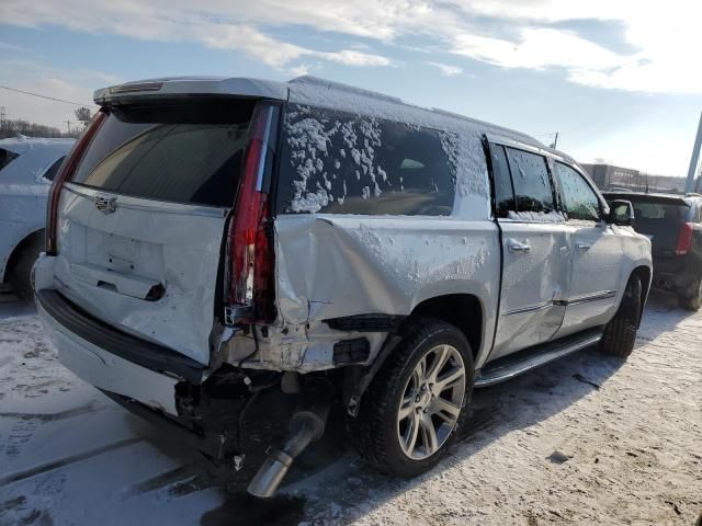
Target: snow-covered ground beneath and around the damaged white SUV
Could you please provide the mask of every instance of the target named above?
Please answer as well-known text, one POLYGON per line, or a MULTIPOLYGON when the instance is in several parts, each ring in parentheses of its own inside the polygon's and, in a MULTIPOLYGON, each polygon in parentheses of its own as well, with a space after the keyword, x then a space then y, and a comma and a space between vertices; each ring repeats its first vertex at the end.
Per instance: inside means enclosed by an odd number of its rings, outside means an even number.
POLYGON ((430 473, 375 474, 332 425, 260 502, 64 369, 5 304, 0 525, 692 526, 701 404, 702 313, 654 297, 627 362, 586 351, 476 391, 468 436, 430 473))

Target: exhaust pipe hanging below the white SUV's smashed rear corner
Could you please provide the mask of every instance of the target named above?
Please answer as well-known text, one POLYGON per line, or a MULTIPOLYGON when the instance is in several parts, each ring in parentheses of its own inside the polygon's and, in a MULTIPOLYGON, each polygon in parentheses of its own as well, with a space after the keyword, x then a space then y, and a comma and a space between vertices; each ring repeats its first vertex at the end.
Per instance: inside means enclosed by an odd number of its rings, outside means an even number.
POLYGON ((290 419, 285 444, 281 449, 268 448, 265 460, 249 482, 249 493, 261 499, 273 496, 293 460, 324 434, 332 395, 329 380, 310 378, 305 382, 301 403, 290 419))

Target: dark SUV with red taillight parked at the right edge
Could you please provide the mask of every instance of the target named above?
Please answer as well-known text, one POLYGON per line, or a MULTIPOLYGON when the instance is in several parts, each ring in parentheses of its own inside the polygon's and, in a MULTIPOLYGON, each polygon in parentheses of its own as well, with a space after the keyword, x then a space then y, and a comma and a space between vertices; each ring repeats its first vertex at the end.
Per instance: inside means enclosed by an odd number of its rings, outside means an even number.
POLYGON ((690 310, 702 306, 702 195, 604 192, 631 201, 634 229, 648 236, 654 259, 654 286, 675 293, 690 310))

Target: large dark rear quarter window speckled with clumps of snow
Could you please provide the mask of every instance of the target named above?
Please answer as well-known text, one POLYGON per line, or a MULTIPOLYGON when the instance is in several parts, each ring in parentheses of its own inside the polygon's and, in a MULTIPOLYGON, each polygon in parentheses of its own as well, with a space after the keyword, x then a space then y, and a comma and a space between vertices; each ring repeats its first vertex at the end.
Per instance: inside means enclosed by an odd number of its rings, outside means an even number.
POLYGON ((280 211, 448 216, 453 208, 454 135, 292 104, 283 144, 280 211))

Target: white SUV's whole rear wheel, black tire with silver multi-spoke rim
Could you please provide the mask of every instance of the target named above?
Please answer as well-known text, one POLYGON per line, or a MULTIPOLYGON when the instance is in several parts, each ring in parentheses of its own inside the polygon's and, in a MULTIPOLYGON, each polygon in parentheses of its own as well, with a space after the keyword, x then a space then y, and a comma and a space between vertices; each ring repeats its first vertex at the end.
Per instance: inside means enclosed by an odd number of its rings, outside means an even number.
POLYGON ((471 345, 458 329, 415 321, 363 396, 352 423, 360 455, 399 477, 431 469, 463 425, 473 376, 471 345))

